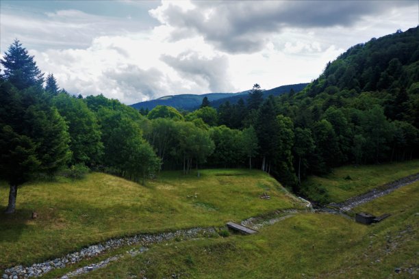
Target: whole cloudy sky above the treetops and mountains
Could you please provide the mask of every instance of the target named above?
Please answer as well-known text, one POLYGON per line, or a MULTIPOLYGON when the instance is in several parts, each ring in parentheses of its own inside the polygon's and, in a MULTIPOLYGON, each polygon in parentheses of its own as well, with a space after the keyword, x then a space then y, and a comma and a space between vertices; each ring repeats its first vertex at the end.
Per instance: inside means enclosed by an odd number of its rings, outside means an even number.
POLYGON ((0 1, 1 55, 126 104, 316 79, 348 47, 419 24, 419 1, 0 1))

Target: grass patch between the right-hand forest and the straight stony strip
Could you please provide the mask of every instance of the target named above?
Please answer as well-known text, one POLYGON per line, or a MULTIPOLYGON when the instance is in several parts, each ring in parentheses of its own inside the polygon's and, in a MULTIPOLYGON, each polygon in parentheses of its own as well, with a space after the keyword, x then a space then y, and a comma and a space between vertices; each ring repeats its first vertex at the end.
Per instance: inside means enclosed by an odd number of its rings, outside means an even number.
POLYGON ((375 187, 419 172, 419 160, 381 165, 347 165, 326 176, 309 176, 302 184, 307 198, 322 203, 343 202, 375 187))

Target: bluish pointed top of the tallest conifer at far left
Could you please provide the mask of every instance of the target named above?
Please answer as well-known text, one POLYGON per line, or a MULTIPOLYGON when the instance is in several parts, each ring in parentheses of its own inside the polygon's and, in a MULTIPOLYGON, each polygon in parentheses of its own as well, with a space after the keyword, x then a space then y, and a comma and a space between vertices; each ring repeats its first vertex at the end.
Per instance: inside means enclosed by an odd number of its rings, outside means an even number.
POLYGON ((42 85, 42 73, 34 62, 34 56, 28 55, 19 40, 14 40, 8 51, 1 59, 3 64, 3 77, 16 88, 23 89, 33 85, 42 85))

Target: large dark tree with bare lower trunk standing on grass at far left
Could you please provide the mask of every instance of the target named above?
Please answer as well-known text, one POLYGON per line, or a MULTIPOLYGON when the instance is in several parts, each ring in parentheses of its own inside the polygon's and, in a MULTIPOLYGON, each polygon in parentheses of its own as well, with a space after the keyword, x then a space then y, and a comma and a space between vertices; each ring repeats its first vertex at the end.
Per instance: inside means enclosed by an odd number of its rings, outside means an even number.
POLYGON ((6 213, 16 207, 18 186, 33 174, 52 175, 70 158, 64 119, 56 109, 42 103, 42 88, 17 90, 0 83, 0 179, 10 185, 6 213))

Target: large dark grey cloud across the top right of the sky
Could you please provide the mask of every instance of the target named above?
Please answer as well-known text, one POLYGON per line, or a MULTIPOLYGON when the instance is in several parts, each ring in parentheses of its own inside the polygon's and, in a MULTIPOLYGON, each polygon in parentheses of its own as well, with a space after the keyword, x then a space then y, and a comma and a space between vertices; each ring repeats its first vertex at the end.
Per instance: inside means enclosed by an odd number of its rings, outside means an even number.
POLYGON ((230 53, 252 53, 286 27, 347 27, 364 16, 379 16, 416 1, 196 1, 184 10, 166 5, 151 11, 160 22, 175 27, 173 40, 201 35, 230 53))

